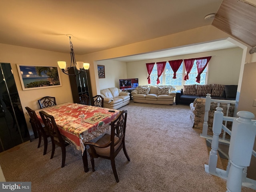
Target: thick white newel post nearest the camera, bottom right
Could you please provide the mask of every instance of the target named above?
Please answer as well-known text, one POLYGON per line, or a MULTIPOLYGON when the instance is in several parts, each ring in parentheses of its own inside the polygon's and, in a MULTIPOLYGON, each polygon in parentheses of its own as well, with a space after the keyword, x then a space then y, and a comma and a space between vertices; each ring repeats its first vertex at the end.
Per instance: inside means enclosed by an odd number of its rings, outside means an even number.
POLYGON ((228 151, 231 165, 226 192, 241 192, 243 170, 246 170, 245 168, 250 165, 256 135, 256 127, 252 122, 255 117, 254 114, 248 111, 240 111, 237 115, 239 118, 233 121, 228 151))

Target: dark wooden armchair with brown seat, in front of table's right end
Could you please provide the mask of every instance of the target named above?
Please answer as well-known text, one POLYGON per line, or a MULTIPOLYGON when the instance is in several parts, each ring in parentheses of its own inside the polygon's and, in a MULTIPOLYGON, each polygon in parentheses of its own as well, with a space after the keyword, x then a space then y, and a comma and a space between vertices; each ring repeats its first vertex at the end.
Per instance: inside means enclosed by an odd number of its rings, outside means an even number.
POLYGON ((126 129, 126 118, 127 110, 121 111, 118 116, 111 121, 111 134, 104 134, 97 142, 85 142, 84 144, 89 145, 88 153, 90 154, 92 171, 95 171, 94 158, 105 158, 111 161, 112 170, 116 178, 116 182, 119 182, 117 172, 115 157, 121 149, 123 149, 124 154, 128 161, 130 158, 126 152, 125 147, 125 129, 126 129))

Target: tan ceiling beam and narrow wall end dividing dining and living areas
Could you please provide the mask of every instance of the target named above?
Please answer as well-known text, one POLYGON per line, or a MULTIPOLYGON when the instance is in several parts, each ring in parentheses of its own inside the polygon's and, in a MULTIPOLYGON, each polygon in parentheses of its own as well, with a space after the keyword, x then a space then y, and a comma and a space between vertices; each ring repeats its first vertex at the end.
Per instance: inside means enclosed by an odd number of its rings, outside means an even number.
POLYGON ((231 36, 226 34, 225 32, 217 29, 214 26, 209 25, 160 38, 129 44, 118 48, 112 48, 104 51, 85 54, 80 57, 80 60, 93 64, 93 66, 90 67, 91 70, 94 70, 94 74, 90 73, 92 85, 94 85, 92 87, 92 93, 99 94, 100 85, 99 79, 97 77, 98 73, 95 70, 97 69, 97 62, 95 61, 131 56, 136 54, 144 54, 159 50, 167 50, 171 48, 186 47, 188 45, 223 40, 230 37, 231 36))

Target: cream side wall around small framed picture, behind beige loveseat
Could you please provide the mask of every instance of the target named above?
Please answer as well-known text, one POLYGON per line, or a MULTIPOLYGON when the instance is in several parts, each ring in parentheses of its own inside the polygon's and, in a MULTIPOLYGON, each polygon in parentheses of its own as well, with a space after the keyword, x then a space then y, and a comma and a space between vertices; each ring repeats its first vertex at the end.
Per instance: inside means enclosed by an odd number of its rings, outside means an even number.
POLYGON ((99 79, 100 90, 110 87, 119 88, 119 79, 125 79, 127 77, 126 62, 103 60, 98 61, 97 64, 105 66, 105 78, 99 79))

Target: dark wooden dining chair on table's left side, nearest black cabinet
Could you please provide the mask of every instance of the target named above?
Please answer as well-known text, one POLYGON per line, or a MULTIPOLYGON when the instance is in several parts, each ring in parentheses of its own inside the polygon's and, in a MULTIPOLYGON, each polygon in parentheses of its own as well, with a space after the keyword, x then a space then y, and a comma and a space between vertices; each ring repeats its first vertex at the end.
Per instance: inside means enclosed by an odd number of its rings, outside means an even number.
POLYGON ((28 114, 30 116, 30 123, 32 128, 34 128, 38 132, 38 146, 37 148, 40 147, 41 140, 43 138, 44 140, 44 153, 43 155, 46 154, 47 151, 47 146, 48 146, 48 137, 50 137, 48 131, 44 126, 42 126, 41 122, 39 121, 36 112, 29 107, 25 107, 26 110, 28 111, 28 114))

